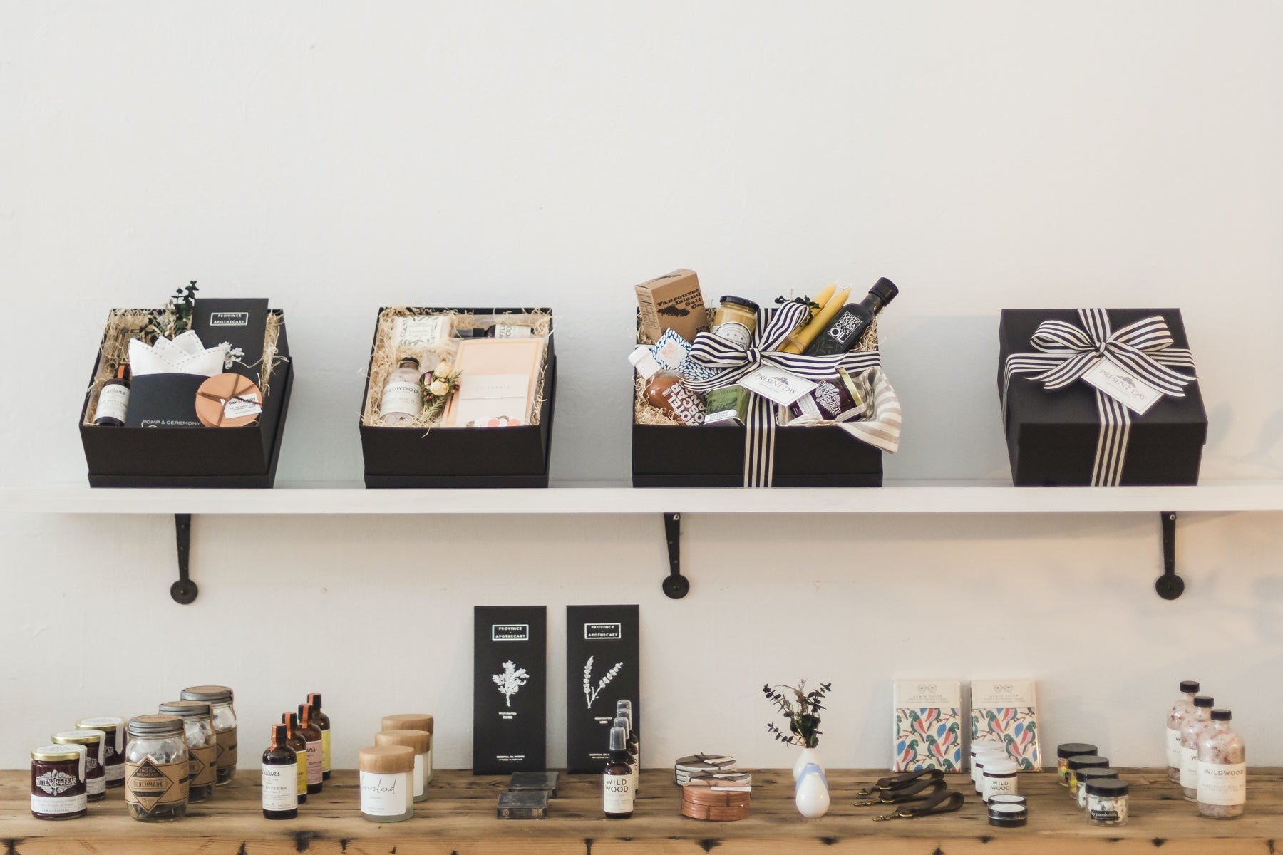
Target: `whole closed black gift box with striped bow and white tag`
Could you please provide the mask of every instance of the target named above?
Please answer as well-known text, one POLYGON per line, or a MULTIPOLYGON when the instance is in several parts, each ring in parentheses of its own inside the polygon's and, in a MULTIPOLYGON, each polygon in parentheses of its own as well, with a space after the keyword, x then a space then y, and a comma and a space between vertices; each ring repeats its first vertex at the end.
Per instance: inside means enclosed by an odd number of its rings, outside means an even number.
POLYGON ((1198 483, 1207 413, 1179 309, 1003 309, 998 338, 1016 486, 1198 483))

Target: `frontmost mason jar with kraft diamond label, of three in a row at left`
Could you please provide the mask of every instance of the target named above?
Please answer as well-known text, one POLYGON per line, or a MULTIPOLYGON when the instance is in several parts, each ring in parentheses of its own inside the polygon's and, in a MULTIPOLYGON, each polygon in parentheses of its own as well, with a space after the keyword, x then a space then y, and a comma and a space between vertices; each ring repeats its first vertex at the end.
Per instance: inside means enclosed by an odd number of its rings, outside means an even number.
POLYGON ((131 718, 124 746, 124 801, 130 815, 154 823, 186 814, 189 759, 181 718, 131 718))

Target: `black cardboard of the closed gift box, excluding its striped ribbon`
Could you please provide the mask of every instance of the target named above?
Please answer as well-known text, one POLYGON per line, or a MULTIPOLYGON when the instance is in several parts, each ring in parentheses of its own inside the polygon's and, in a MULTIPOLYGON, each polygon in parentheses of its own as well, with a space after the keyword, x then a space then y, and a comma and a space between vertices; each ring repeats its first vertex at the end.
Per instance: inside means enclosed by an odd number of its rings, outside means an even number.
MULTIPOLYGON (((1179 309, 1109 309, 1107 315, 1114 331, 1161 315, 1173 346, 1189 346, 1179 309)), ((1019 373, 1007 382, 1007 358, 1038 353, 1030 337, 1044 320, 1083 326, 1076 309, 1003 309, 998 327, 998 394, 1001 400, 1007 387, 1005 429, 1012 481, 1017 487, 1089 486, 1101 444, 1096 388, 1079 379, 1048 391, 1019 373)), ((1184 387, 1184 397, 1165 395, 1143 415, 1132 413, 1130 419, 1120 486, 1198 483, 1207 413, 1197 381, 1184 387)))

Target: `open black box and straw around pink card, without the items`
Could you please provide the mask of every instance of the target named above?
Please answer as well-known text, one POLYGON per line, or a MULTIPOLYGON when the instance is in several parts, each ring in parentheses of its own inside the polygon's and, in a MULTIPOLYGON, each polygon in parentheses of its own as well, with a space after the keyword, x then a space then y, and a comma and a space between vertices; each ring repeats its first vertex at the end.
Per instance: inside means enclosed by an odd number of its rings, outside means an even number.
POLYGON ((359 426, 366 487, 547 487, 556 390, 557 355, 550 309, 380 309, 359 426), (529 423, 444 427, 439 419, 420 419, 408 426, 391 426, 380 419, 384 383, 396 360, 403 356, 421 358, 425 353, 421 341, 404 344, 398 333, 398 319, 429 315, 453 315, 452 324, 467 331, 526 323, 540 336, 547 336, 529 423))

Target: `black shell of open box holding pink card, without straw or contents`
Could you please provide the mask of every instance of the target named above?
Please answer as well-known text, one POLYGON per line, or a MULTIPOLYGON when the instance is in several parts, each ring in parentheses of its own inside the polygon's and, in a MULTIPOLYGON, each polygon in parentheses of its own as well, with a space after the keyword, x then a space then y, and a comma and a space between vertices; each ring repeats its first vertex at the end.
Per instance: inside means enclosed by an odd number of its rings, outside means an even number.
MULTIPOLYGON (((380 309, 382 315, 385 309, 380 309)), ((476 315, 527 314, 552 309, 450 309, 476 315)), ((373 359, 378 331, 370 356, 373 359)), ((504 428, 402 428, 361 423, 361 452, 366 461, 366 487, 547 487, 552 455, 553 410, 557 400, 557 354, 548 336, 543 404, 539 424, 504 428)), ((362 391, 362 409, 370 397, 370 377, 362 391)))

